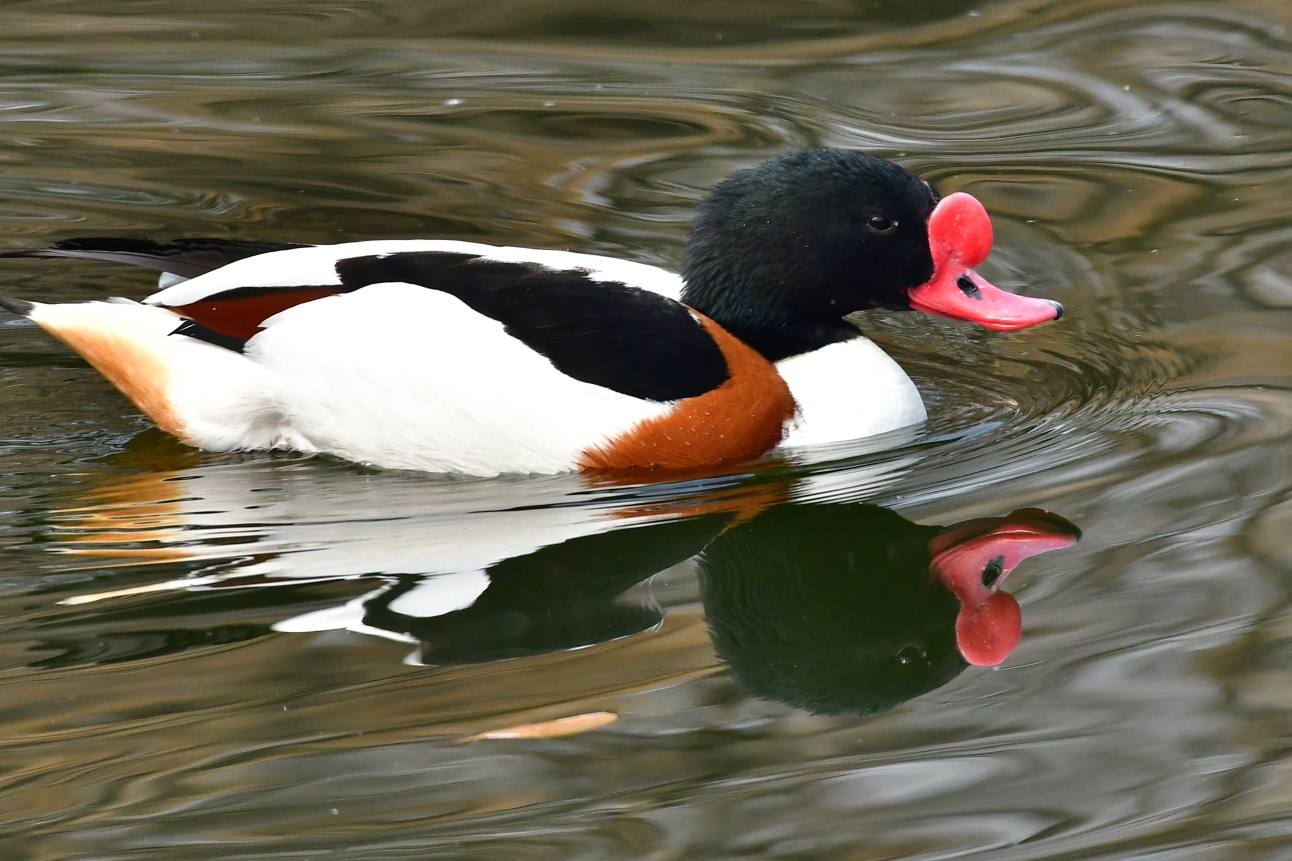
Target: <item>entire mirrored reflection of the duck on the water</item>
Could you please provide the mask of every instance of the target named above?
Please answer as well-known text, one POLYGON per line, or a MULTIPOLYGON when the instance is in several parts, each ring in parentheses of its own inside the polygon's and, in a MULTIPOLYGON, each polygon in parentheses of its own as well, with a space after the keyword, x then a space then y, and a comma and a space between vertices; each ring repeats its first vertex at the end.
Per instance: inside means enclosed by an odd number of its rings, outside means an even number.
MULTIPOLYGON (((828 499, 839 499, 845 473, 827 478, 828 499)), ((1023 560, 1080 535, 1039 509, 925 526, 805 493, 818 485, 818 474, 736 476, 589 495, 568 482, 428 485, 313 465, 155 473, 70 509, 62 549, 205 568, 68 599, 149 596, 124 613, 107 604, 78 617, 93 646, 78 646, 74 631, 47 641, 62 654, 43 663, 229 641, 202 622, 213 621, 212 606, 238 609, 233 639, 348 630, 415 645, 415 664, 568 653, 662 626, 665 609, 650 582, 681 565, 673 579, 698 586, 713 653, 752 694, 814 712, 872 714, 966 666, 1003 662, 1022 623, 1001 584, 1023 560), (289 609, 353 580, 372 587, 339 605, 289 609), (180 604, 150 595, 177 591, 195 595, 180 604), (252 610, 269 624, 249 622, 252 610), (177 613, 183 630, 158 624, 177 613)), ((674 602, 668 613, 691 610, 674 602)), ((686 661, 714 666, 703 652, 686 661)))

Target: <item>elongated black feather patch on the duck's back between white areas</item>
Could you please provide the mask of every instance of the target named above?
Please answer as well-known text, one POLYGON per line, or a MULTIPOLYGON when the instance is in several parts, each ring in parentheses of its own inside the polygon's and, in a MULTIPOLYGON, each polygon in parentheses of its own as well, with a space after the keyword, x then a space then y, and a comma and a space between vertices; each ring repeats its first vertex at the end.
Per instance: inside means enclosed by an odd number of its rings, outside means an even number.
POLYGON ((580 270, 475 255, 408 252, 337 262, 344 291, 402 282, 456 296, 562 374, 647 401, 704 394, 726 358, 686 306, 580 270))

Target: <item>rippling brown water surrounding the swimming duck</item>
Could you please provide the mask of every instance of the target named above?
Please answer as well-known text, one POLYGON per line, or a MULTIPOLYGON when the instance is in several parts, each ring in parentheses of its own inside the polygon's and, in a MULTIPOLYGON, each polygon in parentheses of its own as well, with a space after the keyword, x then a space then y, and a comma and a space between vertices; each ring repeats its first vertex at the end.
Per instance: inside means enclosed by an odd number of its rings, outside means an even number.
MULTIPOLYGON (((982 199, 983 274, 1068 309, 1012 335, 873 315, 925 392, 920 441, 654 487, 196 454, 4 321, 0 857, 1292 857, 1287 4, 34 0, 0 22, 4 247, 444 237, 672 266, 720 177, 860 146, 982 199), (862 503, 1043 507, 1084 538, 1009 578, 1000 668, 810 701, 793 685, 882 626, 783 664, 744 646, 935 615, 832 591, 906 529, 862 503), (504 568, 492 614, 417 608, 504 568), (722 604, 729 574, 749 606, 722 604), (619 717, 457 743, 598 711, 619 717)), ((149 282, 3 266, 26 299, 149 282)))

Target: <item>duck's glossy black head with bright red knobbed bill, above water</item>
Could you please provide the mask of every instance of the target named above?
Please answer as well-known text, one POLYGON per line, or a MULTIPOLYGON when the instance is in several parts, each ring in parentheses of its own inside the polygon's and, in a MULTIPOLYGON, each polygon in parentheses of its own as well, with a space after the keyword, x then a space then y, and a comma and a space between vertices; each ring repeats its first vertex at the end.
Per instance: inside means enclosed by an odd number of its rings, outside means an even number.
POLYGON ((910 171, 857 150, 769 159, 718 184, 687 238, 682 301, 771 361, 857 336, 845 315, 916 309, 1009 331, 1057 319, 1056 301, 974 271, 991 220, 910 171))

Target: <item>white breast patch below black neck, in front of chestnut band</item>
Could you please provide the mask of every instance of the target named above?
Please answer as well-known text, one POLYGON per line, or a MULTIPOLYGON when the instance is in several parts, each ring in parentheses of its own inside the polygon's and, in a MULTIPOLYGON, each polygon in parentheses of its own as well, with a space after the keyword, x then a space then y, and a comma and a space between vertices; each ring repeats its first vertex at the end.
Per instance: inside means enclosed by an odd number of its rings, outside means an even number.
POLYGON ((860 440, 928 418, 915 383, 866 337, 776 362, 798 412, 780 447, 860 440))

